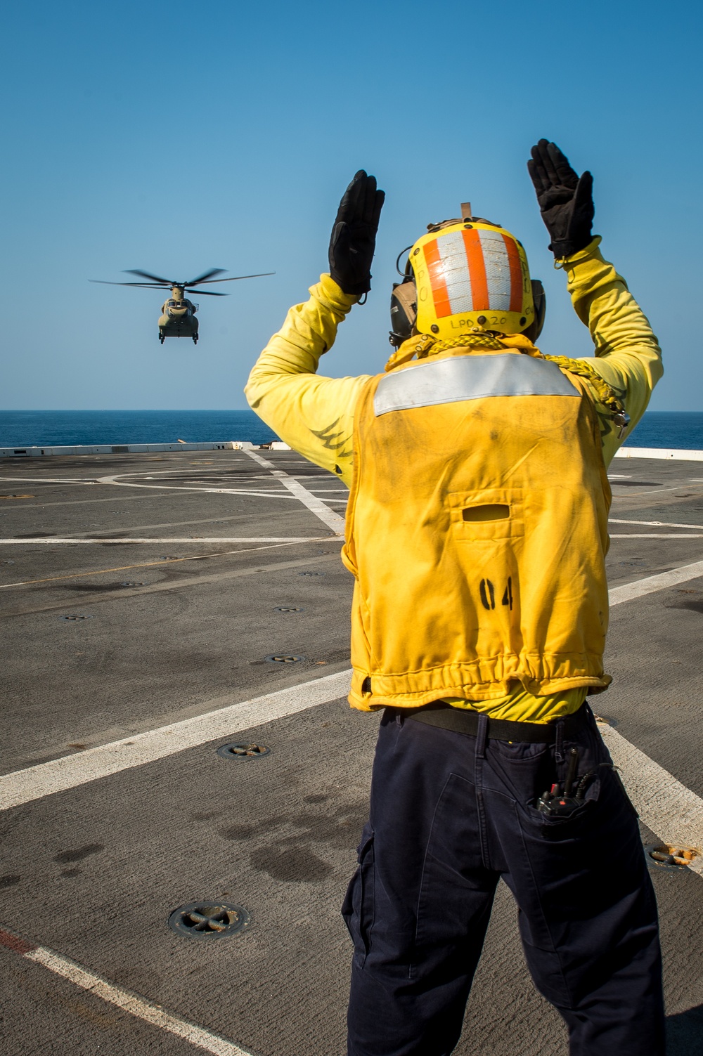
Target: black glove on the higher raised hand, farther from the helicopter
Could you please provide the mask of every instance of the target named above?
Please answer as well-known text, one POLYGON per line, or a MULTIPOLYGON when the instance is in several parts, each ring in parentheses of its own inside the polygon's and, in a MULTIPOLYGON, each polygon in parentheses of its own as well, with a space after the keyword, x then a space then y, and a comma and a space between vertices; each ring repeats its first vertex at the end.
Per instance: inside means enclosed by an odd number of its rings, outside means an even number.
POLYGON ((593 176, 580 178, 555 143, 540 139, 532 148, 528 170, 535 185, 539 211, 557 260, 585 249, 593 235, 593 176))

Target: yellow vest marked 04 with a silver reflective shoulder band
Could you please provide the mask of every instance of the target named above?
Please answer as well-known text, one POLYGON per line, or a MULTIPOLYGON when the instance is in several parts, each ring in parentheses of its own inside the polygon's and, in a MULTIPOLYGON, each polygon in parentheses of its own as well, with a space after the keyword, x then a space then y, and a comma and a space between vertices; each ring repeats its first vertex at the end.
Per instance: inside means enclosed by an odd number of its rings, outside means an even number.
POLYGON ((608 684, 610 487, 579 378, 513 351, 411 362, 365 385, 354 451, 353 704, 608 684))

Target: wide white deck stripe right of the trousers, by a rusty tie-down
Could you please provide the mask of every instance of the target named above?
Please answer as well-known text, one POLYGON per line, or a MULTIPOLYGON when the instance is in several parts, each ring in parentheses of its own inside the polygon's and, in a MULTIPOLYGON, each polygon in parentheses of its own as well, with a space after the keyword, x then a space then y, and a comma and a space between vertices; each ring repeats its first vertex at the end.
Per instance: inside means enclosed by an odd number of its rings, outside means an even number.
MULTIPOLYGON (((608 723, 599 722, 598 729, 647 827, 671 846, 703 849, 703 799, 608 723)), ((703 855, 689 868, 703 878, 703 855)))

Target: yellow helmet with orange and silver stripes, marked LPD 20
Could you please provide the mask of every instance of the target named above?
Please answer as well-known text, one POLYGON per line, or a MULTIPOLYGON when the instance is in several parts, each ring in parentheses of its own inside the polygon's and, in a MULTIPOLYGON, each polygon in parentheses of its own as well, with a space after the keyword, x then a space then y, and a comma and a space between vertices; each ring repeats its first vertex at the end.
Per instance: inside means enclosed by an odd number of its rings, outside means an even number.
POLYGON ((393 326, 401 338, 408 322, 413 333, 439 340, 486 331, 528 332, 535 340, 541 329, 541 283, 531 280, 524 249, 499 224, 467 216, 430 225, 410 249, 405 283, 391 303, 393 323, 405 323, 393 326), (402 320, 393 318, 396 304, 402 320))

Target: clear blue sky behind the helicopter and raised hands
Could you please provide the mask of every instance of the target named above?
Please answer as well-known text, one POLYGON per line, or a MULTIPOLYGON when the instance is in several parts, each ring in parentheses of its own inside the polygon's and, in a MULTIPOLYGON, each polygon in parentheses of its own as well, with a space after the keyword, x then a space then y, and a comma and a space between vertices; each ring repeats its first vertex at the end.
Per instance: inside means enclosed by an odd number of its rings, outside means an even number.
POLYGON ((466 200, 544 281, 542 350, 588 355, 525 169, 547 136, 594 173, 594 229, 660 337, 650 408, 703 411, 692 4, 27 0, 3 25, 0 406, 245 407, 362 167, 387 192, 373 288, 325 373, 383 370, 395 257, 466 200), (162 347, 159 291, 88 283, 135 267, 276 275, 201 298, 197 348, 162 347))

